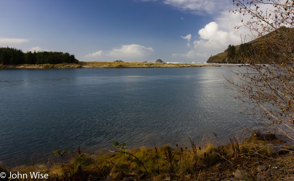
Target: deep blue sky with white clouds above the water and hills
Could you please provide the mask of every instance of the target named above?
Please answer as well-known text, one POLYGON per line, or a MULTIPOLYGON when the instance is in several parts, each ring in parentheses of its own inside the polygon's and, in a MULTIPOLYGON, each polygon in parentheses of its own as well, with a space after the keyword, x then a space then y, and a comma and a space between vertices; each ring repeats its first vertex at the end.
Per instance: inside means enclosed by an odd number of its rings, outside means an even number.
POLYGON ((206 62, 240 44, 230 0, 0 0, 0 46, 80 61, 206 62))

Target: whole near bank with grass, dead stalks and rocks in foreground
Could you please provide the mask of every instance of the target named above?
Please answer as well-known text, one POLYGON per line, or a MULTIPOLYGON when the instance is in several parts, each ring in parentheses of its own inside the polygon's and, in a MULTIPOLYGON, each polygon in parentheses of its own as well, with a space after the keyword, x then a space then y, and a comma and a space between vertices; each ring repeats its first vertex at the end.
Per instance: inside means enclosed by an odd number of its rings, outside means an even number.
MULTIPOLYGON (((277 145, 284 144, 275 135, 255 133, 242 142, 238 137, 230 140, 231 144, 227 145, 213 144, 212 139, 196 145, 191 140, 187 146, 142 147, 133 151, 129 151, 124 143, 114 142, 116 149, 111 152, 115 153, 93 155, 80 148, 74 152, 57 150, 54 153, 58 161, 36 164, 32 160, 28 166, 16 166, 9 171, 28 175, 39 171, 48 174, 49 180, 56 181, 294 179, 294 149, 283 147, 275 151, 277 145)), ((0 166, 2 171, 8 173, 0 166)))

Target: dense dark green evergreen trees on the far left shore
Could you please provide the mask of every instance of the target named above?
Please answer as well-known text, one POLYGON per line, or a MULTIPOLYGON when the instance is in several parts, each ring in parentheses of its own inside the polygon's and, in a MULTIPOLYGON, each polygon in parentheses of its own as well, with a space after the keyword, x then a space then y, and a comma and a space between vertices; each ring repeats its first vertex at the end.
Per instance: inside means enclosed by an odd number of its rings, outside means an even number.
POLYGON ((10 47, 0 47, 0 63, 3 65, 18 64, 78 64, 75 55, 57 51, 27 51, 10 47))

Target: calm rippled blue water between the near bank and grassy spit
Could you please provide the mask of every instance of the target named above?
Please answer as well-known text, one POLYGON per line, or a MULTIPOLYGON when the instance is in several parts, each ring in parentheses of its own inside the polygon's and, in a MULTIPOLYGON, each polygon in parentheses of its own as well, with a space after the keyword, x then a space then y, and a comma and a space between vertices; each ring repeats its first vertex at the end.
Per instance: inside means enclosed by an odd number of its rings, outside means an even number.
POLYGON ((212 132, 227 141, 244 125, 223 74, 242 67, 0 70, 0 161, 29 162, 56 149, 100 152, 188 146, 212 132))

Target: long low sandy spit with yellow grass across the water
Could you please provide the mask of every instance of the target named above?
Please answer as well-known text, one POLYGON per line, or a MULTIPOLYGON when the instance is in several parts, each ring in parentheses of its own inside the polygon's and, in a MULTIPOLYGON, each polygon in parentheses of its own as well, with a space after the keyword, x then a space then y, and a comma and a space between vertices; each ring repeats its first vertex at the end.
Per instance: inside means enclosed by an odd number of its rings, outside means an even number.
POLYGON ((65 68, 158 68, 158 67, 231 67, 240 64, 174 64, 174 63, 138 63, 138 62, 79 62, 79 64, 19 64, 3 65, 0 69, 65 69, 65 68))

